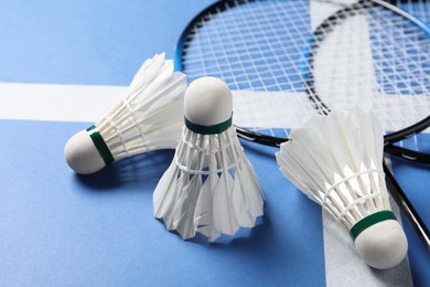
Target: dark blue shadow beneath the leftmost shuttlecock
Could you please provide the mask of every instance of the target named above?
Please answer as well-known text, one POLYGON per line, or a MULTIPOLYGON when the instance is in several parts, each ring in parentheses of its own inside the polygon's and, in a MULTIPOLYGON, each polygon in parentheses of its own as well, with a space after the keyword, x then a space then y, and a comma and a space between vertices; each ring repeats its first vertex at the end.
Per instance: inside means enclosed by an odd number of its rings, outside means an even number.
POLYGON ((94 174, 76 174, 76 179, 95 190, 152 184, 159 181, 171 163, 173 155, 174 150, 150 151, 120 159, 94 174))

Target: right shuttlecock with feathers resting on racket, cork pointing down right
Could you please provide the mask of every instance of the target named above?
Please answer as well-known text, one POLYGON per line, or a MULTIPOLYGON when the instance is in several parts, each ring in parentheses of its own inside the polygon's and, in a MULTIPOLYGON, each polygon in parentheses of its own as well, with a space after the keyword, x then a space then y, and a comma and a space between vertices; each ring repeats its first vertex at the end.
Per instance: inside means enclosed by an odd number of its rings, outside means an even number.
POLYGON ((286 178, 337 219, 369 266, 398 265, 408 242, 389 204, 375 116, 358 108, 314 116, 290 139, 276 155, 286 178))

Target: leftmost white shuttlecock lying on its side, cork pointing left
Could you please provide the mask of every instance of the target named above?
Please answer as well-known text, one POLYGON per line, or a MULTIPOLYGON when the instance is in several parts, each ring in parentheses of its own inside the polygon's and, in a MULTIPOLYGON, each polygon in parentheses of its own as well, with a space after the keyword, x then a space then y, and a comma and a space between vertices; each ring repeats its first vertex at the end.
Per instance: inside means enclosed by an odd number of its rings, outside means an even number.
POLYGON ((115 160, 175 148, 183 126, 186 76, 173 72, 164 53, 147 60, 122 100, 101 120, 74 135, 64 156, 80 174, 94 173, 115 160))

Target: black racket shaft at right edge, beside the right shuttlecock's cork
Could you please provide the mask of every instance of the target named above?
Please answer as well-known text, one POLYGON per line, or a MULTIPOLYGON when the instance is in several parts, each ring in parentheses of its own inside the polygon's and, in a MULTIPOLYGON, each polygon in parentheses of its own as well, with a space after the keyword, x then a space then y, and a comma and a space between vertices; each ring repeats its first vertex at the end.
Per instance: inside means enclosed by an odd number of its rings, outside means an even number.
POLYGON ((430 232, 427 228, 424 222, 418 215, 413 205, 410 203, 405 192, 401 190, 400 185, 397 183, 391 171, 388 169, 387 164, 384 162, 384 172, 386 177, 387 188, 390 192, 393 199, 396 201, 397 205, 408 220, 409 224, 415 228, 418 236, 422 241, 422 244, 430 252, 430 232))

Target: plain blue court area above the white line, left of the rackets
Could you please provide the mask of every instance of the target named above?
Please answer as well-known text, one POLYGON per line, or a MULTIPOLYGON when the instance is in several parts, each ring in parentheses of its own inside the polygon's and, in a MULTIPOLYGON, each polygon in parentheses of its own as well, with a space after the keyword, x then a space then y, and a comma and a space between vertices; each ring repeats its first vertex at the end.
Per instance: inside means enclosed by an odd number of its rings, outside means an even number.
POLYGON ((212 1, 0 1, 2 82, 128 85, 212 1))

